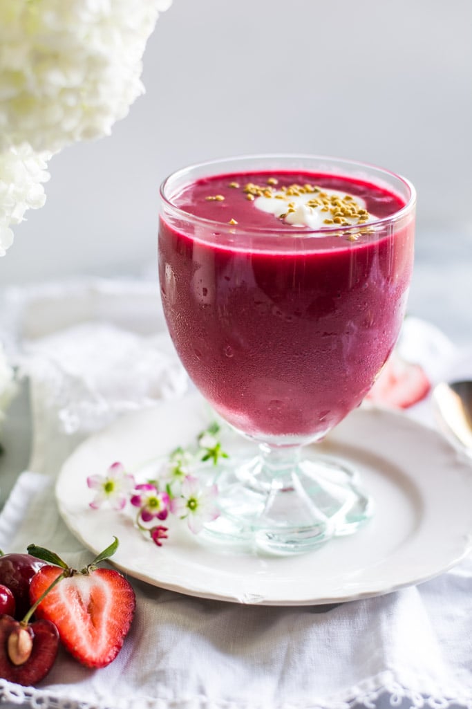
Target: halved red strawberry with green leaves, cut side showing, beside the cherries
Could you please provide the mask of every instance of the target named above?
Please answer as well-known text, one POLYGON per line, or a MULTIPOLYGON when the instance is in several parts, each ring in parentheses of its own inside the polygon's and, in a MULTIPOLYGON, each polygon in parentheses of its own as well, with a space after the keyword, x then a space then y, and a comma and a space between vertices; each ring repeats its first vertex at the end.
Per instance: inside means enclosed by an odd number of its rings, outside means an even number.
POLYGON ((87 667, 104 667, 116 658, 133 620, 133 588, 118 571, 96 568, 117 547, 115 537, 113 544, 80 571, 69 568, 43 547, 28 547, 28 553, 47 562, 31 581, 31 603, 62 577, 40 601, 35 615, 54 623, 64 647, 87 667))

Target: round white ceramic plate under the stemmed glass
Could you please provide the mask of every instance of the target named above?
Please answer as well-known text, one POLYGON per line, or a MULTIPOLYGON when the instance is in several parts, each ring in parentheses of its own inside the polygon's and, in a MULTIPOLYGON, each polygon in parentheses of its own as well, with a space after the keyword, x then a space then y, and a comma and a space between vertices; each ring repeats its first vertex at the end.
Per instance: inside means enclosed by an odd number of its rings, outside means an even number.
POLYGON ((56 493, 65 523, 95 553, 116 535, 113 562, 131 576, 237 603, 337 603, 431 579, 472 548, 471 465, 434 430, 378 409, 354 411, 321 446, 356 463, 376 501, 375 516, 356 534, 315 552, 238 552, 201 541, 181 522, 159 548, 126 515, 89 508, 87 476, 103 474, 117 460, 130 469, 188 445, 208 421, 204 411, 201 399, 190 396, 127 415, 86 440, 60 472, 56 493))

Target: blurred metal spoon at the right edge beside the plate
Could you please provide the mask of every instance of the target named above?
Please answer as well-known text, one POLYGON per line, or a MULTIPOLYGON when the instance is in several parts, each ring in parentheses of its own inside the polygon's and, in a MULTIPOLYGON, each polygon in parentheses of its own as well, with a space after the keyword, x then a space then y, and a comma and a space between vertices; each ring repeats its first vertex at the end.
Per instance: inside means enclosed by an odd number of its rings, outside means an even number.
POLYGON ((437 384, 432 393, 432 408, 444 435, 472 457, 472 381, 437 384))

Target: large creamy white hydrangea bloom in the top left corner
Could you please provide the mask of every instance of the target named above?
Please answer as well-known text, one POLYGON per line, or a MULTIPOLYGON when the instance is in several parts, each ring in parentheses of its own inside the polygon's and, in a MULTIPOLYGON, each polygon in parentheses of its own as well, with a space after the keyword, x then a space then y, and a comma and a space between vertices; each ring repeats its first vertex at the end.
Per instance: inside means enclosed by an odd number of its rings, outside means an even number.
POLYGON ((0 151, 111 133, 142 94, 142 55, 172 0, 0 0, 0 151))

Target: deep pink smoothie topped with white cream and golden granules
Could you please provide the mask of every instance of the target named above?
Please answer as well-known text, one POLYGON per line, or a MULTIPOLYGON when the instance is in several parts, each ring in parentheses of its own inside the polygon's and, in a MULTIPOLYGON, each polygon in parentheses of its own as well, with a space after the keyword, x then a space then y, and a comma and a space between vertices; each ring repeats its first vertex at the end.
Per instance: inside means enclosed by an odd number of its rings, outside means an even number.
POLYGON ((361 403, 398 337, 414 224, 386 218, 405 202, 288 171, 198 179, 170 201, 179 213, 160 220, 159 279, 191 379, 254 438, 322 437, 361 403))

